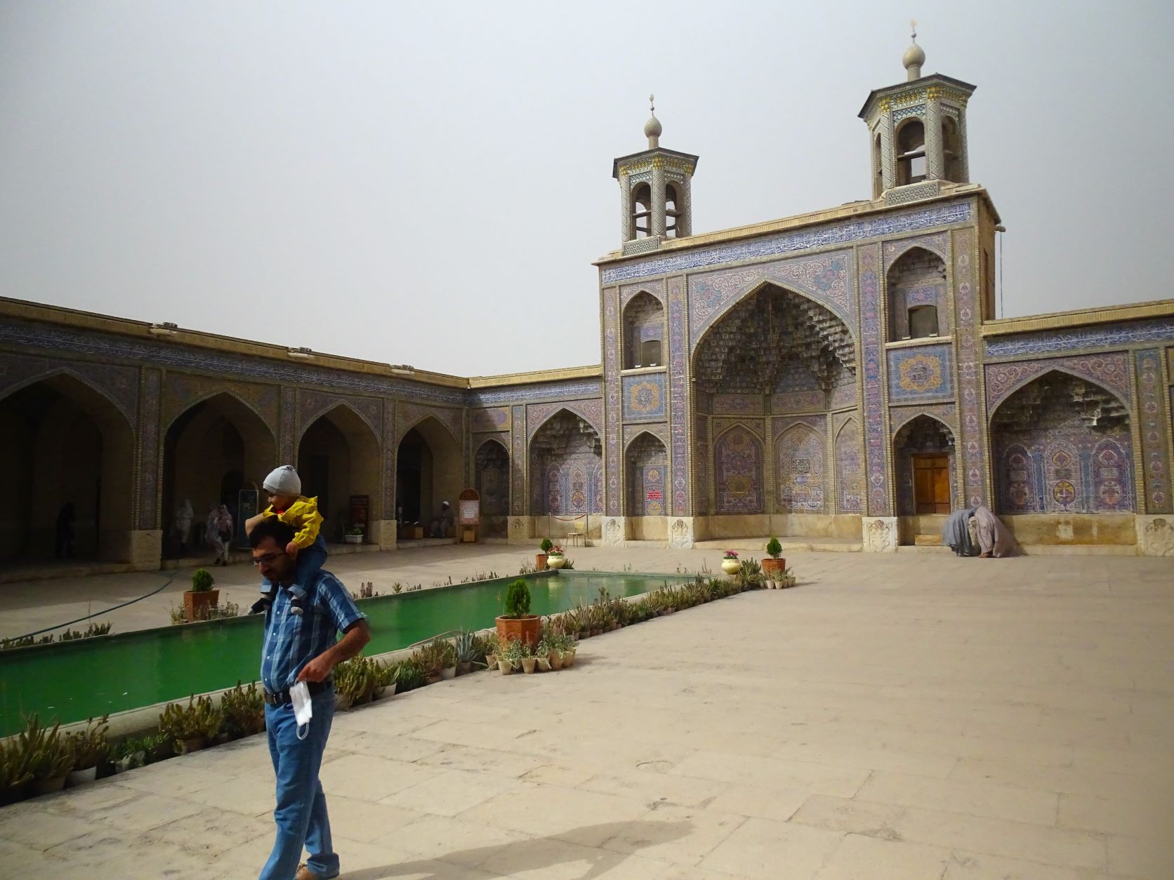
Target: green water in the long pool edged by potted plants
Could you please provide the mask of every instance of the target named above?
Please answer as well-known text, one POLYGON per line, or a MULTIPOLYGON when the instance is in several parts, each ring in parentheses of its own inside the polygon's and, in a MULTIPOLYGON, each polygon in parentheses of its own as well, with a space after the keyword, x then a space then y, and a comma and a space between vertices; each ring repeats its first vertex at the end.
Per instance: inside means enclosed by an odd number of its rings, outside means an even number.
MULTIPOLYGON (((492 627, 513 580, 363 600, 359 608, 371 624, 366 652, 393 651, 448 630, 492 627)), ((613 596, 635 596, 683 580, 594 571, 527 577, 533 614, 591 602, 600 587, 613 596)), ((255 615, 0 651, 0 736, 21 727, 22 712, 68 724, 230 688, 238 679, 252 682, 259 676, 262 622, 255 615)))

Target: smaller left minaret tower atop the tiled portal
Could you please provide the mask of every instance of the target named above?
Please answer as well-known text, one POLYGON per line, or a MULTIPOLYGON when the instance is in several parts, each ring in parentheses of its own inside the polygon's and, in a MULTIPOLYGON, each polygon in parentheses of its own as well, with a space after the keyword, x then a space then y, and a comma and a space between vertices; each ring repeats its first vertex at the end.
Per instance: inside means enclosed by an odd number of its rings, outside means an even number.
POLYGON ((620 182, 620 243, 625 253, 645 253, 669 238, 693 233, 690 183, 697 157, 660 145, 663 127, 656 119, 655 97, 645 123, 648 149, 612 163, 620 182))

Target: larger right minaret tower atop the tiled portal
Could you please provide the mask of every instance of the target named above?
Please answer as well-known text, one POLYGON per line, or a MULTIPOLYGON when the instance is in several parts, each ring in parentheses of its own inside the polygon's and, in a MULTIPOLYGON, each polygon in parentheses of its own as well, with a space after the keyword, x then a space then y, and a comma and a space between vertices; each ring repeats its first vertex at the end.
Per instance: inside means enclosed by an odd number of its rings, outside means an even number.
POLYGON ((875 89, 859 116, 869 127, 872 198, 904 204, 936 196, 943 184, 969 183, 966 102, 974 86, 943 74, 922 75, 925 50, 902 56, 905 82, 875 89))

